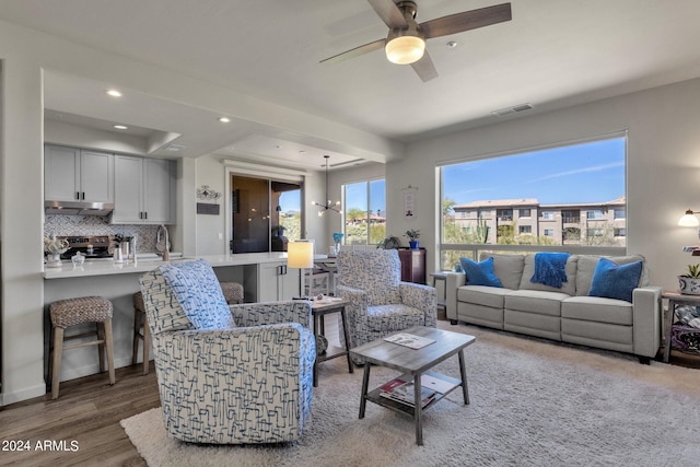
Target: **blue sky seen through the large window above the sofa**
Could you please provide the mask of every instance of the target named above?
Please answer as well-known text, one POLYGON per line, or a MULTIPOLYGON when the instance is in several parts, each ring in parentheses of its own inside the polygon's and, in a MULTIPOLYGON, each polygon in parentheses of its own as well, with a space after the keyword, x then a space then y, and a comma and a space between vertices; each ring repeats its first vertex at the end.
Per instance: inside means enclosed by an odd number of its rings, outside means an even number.
POLYGON ((625 138, 444 167, 444 194, 459 203, 537 198, 603 202, 625 195, 625 138))

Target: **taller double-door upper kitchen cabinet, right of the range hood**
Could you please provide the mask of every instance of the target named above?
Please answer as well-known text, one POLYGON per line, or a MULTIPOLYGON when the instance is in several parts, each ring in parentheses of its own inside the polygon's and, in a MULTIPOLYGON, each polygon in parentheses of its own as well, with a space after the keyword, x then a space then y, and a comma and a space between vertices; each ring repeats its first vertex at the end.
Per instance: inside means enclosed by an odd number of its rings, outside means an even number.
POLYGON ((163 159, 115 156, 113 223, 172 223, 173 162, 163 159))

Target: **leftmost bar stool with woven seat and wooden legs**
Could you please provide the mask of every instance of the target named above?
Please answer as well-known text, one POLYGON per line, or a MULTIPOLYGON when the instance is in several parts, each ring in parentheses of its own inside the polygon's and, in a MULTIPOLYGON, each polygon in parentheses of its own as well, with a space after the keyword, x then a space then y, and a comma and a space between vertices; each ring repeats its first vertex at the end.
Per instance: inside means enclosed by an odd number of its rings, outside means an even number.
POLYGON ((104 357, 107 349, 107 364, 109 365, 109 384, 115 383, 114 376, 114 348, 112 346, 112 302, 102 296, 81 296, 78 299, 59 300, 49 305, 51 326, 54 328, 54 358, 51 366, 51 397, 58 397, 58 384, 60 381, 61 357, 63 350, 77 349, 85 346, 97 346, 100 352, 100 372, 105 371, 104 357), (66 328, 83 323, 95 323, 96 332, 83 332, 74 336, 65 336, 66 328), (63 346, 65 340, 72 340, 95 336, 97 339, 82 341, 72 346, 63 346))

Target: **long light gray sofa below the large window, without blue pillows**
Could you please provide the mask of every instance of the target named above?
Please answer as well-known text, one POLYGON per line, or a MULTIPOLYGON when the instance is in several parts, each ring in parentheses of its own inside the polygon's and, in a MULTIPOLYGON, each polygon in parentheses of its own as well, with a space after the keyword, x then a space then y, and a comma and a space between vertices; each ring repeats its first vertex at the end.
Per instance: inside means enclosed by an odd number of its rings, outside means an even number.
MULTIPOLYGON (((571 255, 561 288, 532 282, 535 253, 485 253, 502 288, 469 285, 465 273, 448 273, 446 315, 464 322, 547 339, 632 353, 649 363, 661 345, 662 289, 649 284, 643 262, 631 303, 588 296, 600 256, 571 255), (489 260, 490 261, 490 260, 489 260)), ((644 261, 639 255, 607 257, 617 265, 644 261)))

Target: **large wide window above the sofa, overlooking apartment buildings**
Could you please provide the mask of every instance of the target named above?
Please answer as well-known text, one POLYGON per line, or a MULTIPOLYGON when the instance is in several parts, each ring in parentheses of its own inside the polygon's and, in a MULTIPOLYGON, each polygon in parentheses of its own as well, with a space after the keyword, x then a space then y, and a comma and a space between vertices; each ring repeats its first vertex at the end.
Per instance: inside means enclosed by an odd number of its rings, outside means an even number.
POLYGON ((442 166, 442 267, 498 249, 485 244, 511 252, 625 247, 626 145, 620 135, 442 166))

